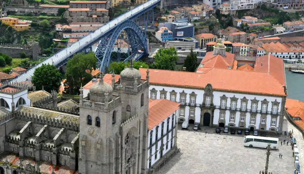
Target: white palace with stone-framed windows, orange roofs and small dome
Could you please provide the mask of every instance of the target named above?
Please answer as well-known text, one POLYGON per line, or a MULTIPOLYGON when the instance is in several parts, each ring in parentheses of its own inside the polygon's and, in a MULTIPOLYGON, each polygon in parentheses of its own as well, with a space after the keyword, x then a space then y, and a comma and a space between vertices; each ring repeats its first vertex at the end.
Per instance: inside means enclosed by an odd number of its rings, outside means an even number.
POLYGON ((264 55, 254 68, 238 66, 221 39, 213 48, 196 72, 150 69, 149 97, 181 103, 180 122, 282 133, 287 96, 283 60, 264 55))

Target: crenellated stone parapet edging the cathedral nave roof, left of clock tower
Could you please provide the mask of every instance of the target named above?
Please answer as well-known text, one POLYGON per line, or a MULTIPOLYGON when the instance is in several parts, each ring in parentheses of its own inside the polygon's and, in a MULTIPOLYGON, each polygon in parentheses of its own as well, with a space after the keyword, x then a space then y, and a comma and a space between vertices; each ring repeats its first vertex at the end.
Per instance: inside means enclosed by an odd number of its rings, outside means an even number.
POLYGON ((55 127, 79 131, 78 118, 75 118, 75 121, 71 121, 71 120, 62 120, 62 119, 45 117, 41 115, 34 115, 34 114, 31 115, 30 113, 28 114, 24 112, 17 112, 16 118, 23 119, 26 121, 36 122, 39 124, 51 125, 55 127))

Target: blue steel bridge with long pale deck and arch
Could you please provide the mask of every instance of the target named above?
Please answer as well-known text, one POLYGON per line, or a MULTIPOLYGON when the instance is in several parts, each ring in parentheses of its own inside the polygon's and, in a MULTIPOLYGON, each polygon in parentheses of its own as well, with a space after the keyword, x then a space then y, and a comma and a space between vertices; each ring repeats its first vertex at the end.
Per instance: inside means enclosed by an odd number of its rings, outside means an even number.
MULTIPOLYGON (((154 25, 153 8, 159 5, 160 2, 161 0, 149 0, 142 5, 133 8, 129 12, 112 19, 94 32, 91 32, 79 39, 77 42, 68 45, 66 48, 45 59, 43 62, 31 67, 19 76, 16 76, 12 81, 22 82, 30 80, 35 69, 40 67, 42 64, 53 64, 57 66, 57 68, 60 68, 62 65, 66 64, 67 59, 71 58, 74 54, 92 50, 92 45, 96 42, 98 42, 95 50, 95 56, 97 57, 96 66, 101 72, 105 72, 110 64, 111 53, 116 40, 119 38, 119 34, 123 30, 126 31, 129 45, 131 47, 128 49, 128 57, 124 61, 129 59, 135 59, 137 61, 143 55, 148 54, 146 33, 147 24, 152 21, 151 24, 154 25), (141 24, 144 24, 144 30, 140 28, 141 24), (141 51, 139 52, 138 49, 141 49, 141 51)), ((119 44, 117 43, 117 45, 119 44)), ((120 57, 118 56, 114 61, 121 61, 120 57)))

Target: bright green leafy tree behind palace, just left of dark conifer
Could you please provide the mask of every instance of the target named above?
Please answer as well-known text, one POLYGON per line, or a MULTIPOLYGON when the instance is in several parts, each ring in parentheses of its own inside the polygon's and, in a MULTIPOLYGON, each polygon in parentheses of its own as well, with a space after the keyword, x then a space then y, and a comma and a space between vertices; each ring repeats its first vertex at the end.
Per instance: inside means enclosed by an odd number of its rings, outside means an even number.
POLYGON ((171 48, 160 48, 154 55, 155 62, 152 65, 156 69, 167 69, 174 70, 176 62, 178 61, 177 50, 174 47, 171 48))

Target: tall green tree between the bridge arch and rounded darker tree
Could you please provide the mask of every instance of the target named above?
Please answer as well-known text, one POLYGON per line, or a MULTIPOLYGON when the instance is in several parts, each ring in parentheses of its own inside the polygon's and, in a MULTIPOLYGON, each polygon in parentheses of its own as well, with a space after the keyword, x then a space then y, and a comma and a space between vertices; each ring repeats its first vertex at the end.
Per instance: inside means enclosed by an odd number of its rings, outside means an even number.
POLYGON ((96 62, 94 52, 78 53, 67 61, 67 80, 64 83, 64 86, 68 86, 65 88, 66 93, 77 95, 81 84, 87 84, 92 80, 92 67, 96 68, 96 62))

